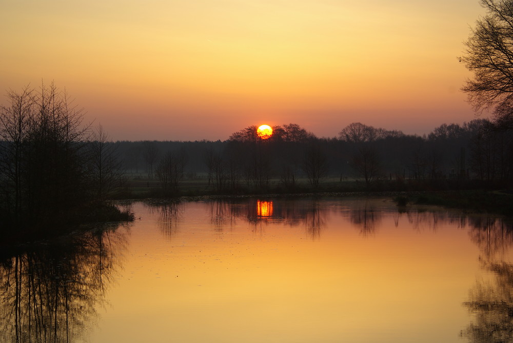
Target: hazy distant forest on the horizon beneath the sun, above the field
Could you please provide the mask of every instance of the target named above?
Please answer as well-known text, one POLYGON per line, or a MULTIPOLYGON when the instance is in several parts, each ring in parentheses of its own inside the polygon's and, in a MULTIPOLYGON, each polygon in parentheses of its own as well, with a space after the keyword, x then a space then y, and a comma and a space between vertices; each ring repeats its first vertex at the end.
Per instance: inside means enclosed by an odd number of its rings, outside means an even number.
POLYGON ((337 137, 320 138, 288 124, 266 140, 250 126, 225 141, 109 144, 126 177, 155 179, 170 193, 185 179, 204 179, 222 192, 294 191, 300 179, 310 190, 327 179, 357 180, 367 189, 391 182, 395 189, 443 189, 450 180, 504 187, 513 176, 511 131, 482 118, 442 124, 424 136, 352 123, 337 137))

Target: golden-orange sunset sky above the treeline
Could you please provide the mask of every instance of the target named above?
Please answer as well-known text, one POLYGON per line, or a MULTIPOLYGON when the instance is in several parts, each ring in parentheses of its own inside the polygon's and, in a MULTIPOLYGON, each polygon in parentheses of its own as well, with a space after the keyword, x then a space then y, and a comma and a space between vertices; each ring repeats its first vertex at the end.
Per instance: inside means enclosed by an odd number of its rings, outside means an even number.
POLYGON ((53 81, 113 140, 289 123, 422 135, 476 118, 458 56, 484 14, 478 0, 2 0, 0 91, 53 81))

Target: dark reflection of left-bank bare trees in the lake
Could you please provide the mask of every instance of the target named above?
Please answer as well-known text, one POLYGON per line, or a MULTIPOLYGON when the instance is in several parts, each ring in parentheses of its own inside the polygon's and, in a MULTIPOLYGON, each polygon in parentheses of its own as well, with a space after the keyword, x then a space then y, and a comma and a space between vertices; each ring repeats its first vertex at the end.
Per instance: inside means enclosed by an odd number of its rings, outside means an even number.
MULTIPOLYGON (((127 230, 119 225, 2 256, 0 341, 72 342, 104 303, 127 230)), ((126 227, 127 228, 127 227, 126 227)))

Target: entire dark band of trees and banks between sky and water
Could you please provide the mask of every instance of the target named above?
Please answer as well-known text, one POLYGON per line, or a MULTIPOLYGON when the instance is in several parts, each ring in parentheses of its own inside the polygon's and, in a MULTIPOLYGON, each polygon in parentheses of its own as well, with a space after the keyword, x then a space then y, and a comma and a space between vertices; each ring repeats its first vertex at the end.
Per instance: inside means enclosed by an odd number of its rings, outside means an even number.
POLYGON ((54 85, 7 98, 0 115, 4 236, 130 219, 114 199, 464 190, 493 197, 513 180, 513 134, 484 118, 424 136, 352 123, 327 138, 284 124, 268 139, 249 126, 216 142, 112 142, 101 126, 83 125, 83 111, 54 85))

